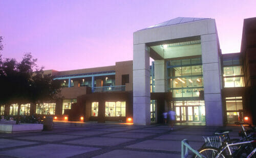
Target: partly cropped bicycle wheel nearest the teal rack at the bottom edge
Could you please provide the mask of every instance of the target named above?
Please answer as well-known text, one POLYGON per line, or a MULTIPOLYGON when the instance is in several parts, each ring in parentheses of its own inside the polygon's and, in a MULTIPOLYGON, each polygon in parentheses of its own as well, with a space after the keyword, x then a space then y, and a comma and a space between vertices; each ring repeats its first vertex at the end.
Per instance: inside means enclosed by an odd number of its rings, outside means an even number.
MULTIPOLYGON (((198 151, 199 151, 199 153, 201 153, 202 155, 204 155, 207 158, 216 157, 219 153, 219 150, 215 147, 205 147, 205 148, 199 149, 198 151)), ((198 158, 199 156, 195 155, 194 157, 198 158)), ((221 153, 218 157, 225 158, 226 156, 221 153)))

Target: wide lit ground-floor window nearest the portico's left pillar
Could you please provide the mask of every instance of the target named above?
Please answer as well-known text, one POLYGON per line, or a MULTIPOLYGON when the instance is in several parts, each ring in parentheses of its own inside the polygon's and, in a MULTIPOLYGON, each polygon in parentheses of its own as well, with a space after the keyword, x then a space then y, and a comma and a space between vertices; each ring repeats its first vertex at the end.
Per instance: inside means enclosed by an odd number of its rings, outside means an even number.
POLYGON ((125 101, 105 102, 106 117, 124 117, 125 116, 125 101))

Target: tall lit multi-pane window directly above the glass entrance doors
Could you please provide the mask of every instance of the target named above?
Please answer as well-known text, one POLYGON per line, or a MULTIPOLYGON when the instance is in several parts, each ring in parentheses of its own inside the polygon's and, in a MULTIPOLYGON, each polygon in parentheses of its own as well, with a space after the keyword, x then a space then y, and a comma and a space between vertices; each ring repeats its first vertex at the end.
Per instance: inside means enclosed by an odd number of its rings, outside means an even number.
POLYGON ((167 61, 167 74, 173 97, 199 97, 203 91, 201 58, 167 61))

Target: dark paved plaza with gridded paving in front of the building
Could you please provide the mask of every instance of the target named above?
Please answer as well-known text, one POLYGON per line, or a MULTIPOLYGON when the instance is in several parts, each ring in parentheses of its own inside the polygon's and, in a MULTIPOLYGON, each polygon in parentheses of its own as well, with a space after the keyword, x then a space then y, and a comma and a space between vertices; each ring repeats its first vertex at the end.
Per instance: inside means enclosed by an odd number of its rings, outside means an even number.
POLYGON ((129 125, 122 123, 54 122, 54 130, 34 133, 0 133, 0 157, 181 157, 181 140, 199 149, 202 135, 216 129, 239 126, 206 127, 164 124, 129 125))

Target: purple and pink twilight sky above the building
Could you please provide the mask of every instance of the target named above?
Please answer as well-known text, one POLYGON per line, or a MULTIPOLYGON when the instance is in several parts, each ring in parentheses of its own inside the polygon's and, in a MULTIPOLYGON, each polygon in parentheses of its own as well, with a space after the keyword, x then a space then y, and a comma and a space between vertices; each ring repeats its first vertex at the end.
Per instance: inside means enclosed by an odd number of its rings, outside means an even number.
POLYGON ((222 52, 239 52, 243 19, 256 1, 0 0, 4 58, 32 52, 45 69, 115 65, 133 59, 133 32, 176 17, 215 18, 222 52))

